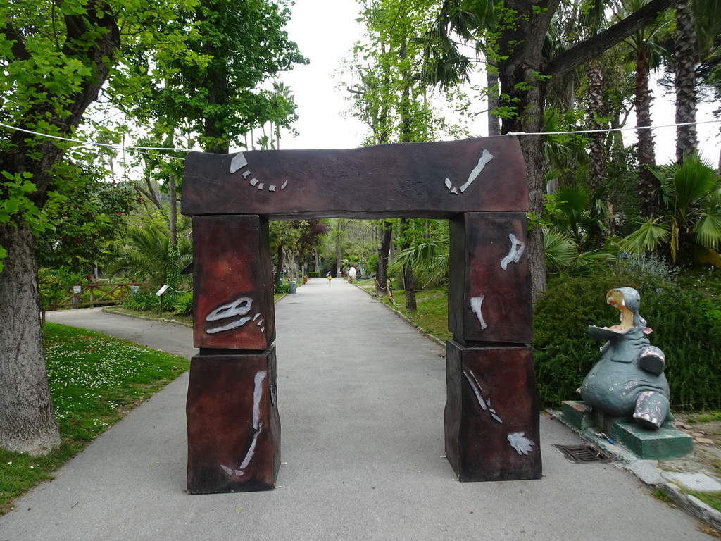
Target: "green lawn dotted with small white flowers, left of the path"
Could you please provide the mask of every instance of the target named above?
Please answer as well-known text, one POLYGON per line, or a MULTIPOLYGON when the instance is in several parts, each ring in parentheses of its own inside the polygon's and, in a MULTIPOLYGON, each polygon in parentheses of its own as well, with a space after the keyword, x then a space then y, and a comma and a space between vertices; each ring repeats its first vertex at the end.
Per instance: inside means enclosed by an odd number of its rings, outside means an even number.
POLYGON ((89 442, 190 367, 182 357, 45 323, 50 395, 62 444, 47 457, 0 449, 0 515, 89 442))

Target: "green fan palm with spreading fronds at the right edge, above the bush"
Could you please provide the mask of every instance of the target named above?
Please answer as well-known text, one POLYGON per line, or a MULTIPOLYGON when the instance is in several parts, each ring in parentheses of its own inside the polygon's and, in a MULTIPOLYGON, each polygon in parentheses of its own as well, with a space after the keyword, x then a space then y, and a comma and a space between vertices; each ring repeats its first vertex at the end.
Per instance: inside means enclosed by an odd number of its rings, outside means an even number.
POLYGON ((664 214, 647 218, 625 237, 629 252, 650 252, 668 245, 674 263, 691 263, 694 250, 717 252, 721 244, 721 179, 696 154, 658 173, 664 214))

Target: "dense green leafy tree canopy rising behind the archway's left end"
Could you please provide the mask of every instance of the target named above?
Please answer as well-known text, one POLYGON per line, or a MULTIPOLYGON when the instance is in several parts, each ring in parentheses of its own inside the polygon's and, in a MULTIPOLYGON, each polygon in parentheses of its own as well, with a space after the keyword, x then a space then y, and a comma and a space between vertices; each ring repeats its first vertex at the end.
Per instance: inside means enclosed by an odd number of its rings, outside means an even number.
POLYGON ((182 124, 215 152, 267 122, 289 128, 291 98, 264 87, 308 62, 283 30, 289 18, 284 1, 202 0, 184 10, 174 27, 197 30, 186 41, 190 54, 138 59, 154 83, 133 114, 162 119, 171 130, 182 124))

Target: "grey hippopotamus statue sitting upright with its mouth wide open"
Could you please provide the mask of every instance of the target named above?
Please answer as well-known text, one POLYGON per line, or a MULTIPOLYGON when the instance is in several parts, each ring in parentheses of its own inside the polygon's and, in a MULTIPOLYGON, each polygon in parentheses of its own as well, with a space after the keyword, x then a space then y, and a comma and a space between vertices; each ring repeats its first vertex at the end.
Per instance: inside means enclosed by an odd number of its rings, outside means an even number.
POLYGON ((583 380, 580 394, 591 408, 616 416, 632 416, 645 428, 658 429, 668 414, 668 382, 663 351, 650 346, 651 329, 639 314, 641 296, 633 288, 611 289, 606 302, 621 311, 613 327, 588 326, 601 347, 601 360, 583 380))

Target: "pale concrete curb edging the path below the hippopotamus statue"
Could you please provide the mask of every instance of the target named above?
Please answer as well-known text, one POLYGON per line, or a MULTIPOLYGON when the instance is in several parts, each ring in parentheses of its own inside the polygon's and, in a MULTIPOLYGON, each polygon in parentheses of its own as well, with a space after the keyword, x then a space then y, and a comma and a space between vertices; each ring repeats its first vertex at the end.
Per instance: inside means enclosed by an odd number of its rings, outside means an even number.
POLYGON ((574 431, 581 439, 589 441, 604 453, 610 455, 614 460, 614 464, 622 467, 624 470, 632 472, 642 483, 652 489, 662 490, 668 498, 671 498, 673 504, 679 509, 683 509, 686 513, 694 516, 709 526, 721 530, 721 512, 708 506, 691 494, 685 493, 676 483, 667 480, 663 475, 663 470, 658 465, 658 460, 642 460, 636 455, 627 451, 619 445, 609 444, 602 438, 590 436, 584 431, 578 431, 574 426, 566 423, 560 411, 546 410, 549 415, 560 421, 565 426, 574 431))

